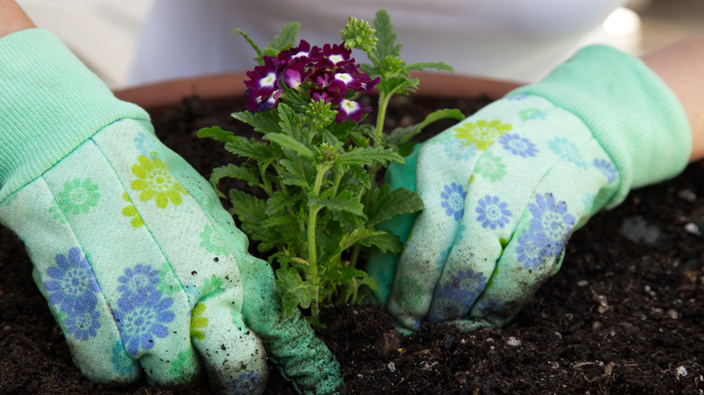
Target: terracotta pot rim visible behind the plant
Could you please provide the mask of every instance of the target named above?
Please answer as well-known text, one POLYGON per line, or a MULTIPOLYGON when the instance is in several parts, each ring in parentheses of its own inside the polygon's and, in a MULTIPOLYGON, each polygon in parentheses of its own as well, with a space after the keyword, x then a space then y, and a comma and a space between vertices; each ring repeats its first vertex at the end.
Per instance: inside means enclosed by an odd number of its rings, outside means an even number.
MULTIPOLYGON (((448 73, 413 73, 421 78, 417 95, 444 97, 475 97, 486 95, 492 99, 504 96, 522 84, 491 78, 475 78, 448 73)), ((142 106, 155 115, 179 104, 186 96, 199 96, 209 101, 225 101, 245 94, 245 72, 207 75, 199 78, 174 79, 157 84, 119 90, 115 95, 125 101, 142 106)))

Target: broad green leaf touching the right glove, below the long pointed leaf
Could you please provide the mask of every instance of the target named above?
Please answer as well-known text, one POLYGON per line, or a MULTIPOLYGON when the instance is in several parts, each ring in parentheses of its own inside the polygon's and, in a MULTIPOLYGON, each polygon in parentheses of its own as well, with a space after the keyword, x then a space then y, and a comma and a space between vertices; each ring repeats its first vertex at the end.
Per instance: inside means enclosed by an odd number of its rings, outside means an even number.
POLYGON ((395 188, 388 184, 375 188, 369 202, 369 225, 376 225, 399 214, 410 214, 423 209, 421 197, 406 188, 395 188))

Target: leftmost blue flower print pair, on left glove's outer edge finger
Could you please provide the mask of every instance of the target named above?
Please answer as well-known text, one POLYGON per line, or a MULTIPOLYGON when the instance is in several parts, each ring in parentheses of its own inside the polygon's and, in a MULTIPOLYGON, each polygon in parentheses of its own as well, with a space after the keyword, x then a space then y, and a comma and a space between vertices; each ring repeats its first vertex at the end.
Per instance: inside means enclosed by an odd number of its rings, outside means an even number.
POLYGON ((49 303, 66 314, 64 324, 74 338, 95 337, 100 328, 100 313, 96 309, 100 288, 88 259, 74 247, 67 255, 56 255, 55 261, 56 266, 47 269, 51 280, 43 283, 49 303))

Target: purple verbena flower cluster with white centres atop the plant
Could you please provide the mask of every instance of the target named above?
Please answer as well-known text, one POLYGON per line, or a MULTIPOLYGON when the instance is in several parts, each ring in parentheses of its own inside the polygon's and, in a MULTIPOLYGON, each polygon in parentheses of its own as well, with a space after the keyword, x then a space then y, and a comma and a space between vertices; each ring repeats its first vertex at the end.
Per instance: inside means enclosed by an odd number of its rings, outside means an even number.
POLYGON ((247 71, 247 109, 260 112, 279 103, 283 87, 306 89, 313 100, 324 100, 337 108, 337 122, 359 122, 372 111, 370 106, 350 100, 350 94, 373 93, 380 78, 371 80, 351 58, 344 45, 322 48, 301 40, 298 47, 264 56, 264 65, 247 71))

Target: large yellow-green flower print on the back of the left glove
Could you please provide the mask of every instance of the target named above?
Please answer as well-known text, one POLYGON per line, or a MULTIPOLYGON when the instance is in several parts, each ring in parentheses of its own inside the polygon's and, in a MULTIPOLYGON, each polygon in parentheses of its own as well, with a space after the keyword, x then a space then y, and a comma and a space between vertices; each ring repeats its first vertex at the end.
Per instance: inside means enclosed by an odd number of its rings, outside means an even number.
POLYGON ((169 202, 174 206, 181 205, 181 195, 188 195, 188 192, 173 178, 166 163, 144 155, 140 155, 138 161, 132 165, 132 173, 137 179, 130 183, 130 187, 140 191, 140 200, 146 202, 155 198, 159 208, 168 207, 169 202))

